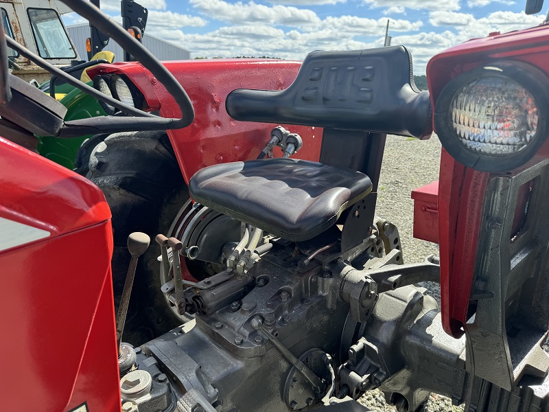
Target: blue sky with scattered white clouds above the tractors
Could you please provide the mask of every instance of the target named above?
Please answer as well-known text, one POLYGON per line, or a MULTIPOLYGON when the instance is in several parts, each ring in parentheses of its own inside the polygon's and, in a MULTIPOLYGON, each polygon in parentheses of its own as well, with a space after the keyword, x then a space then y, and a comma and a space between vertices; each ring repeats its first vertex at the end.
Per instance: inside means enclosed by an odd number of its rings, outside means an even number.
MULTIPOLYGON (((434 54, 470 38, 539 25, 525 0, 137 0, 149 10, 145 36, 185 47, 195 57, 269 56, 303 60, 313 50, 405 45, 414 73, 434 54)), ((549 2, 546 2, 549 3, 549 2)), ((547 12, 547 6, 541 13, 547 12)), ((119 20, 119 0, 102 0, 119 20)), ((81 23, 79 16, 65 18, 81 23)))

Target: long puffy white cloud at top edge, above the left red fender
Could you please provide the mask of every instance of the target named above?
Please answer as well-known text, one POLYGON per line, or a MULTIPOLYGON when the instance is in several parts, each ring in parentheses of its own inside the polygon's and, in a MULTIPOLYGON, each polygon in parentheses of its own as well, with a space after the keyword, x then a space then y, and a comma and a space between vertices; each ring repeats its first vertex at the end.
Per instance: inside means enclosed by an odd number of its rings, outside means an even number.
POLYGON ((223 0, 189 0, 191 5, 213 19, 234 24, 272 24, 299 27, 304 24, 320 23, 312 10, 288 7, 285 5, 248 3, 228 3, 223 0))

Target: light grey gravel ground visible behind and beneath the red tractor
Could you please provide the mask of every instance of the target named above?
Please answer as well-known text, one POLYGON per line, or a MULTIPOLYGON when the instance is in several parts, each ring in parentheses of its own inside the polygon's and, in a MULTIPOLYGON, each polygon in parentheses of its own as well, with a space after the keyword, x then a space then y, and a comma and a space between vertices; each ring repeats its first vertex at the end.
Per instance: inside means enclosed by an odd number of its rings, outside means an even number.
MULTIPOLYGON (((376 215, 397 225, 400 233, 404 262, 423 262, 428 255, 439 255, 437 244, 414 239, 412 224, 414 201, 412 190, 439 179, 441 143, 436 136, 419 141, 399 136, 388 136, 379 179, 376 215)), ((423 282, 421 286, 440 302, 438 284, 423 282)), ((381 391, 369 391, 359 402, 375 412, 393 412, 396 409, 385 402, 381 391)), ((428 402, 428 412, 463 411, 453 407, 444 396, 433 394, 428 402)))

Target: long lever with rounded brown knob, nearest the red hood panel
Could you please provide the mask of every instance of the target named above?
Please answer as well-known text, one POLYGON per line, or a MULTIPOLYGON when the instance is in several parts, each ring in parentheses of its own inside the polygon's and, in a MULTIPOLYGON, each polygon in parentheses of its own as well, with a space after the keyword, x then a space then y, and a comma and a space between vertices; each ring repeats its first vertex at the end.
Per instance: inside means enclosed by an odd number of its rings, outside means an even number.
POLYGON ((122 290, 122 296, 116 314, 116 334, 120 373, 127 371, 135 363, 135 352, 130 345, 122 343, 122 332, 124 332, 126 314, 128 314, 128 305, 130 304, 130 295, 132 294, 137 259, 145 253, 149 244, 150 238, 145 233, 134 232, 128 236, 128 251, 130 252, 130 255, 132 255, 132 260, 130 260, 130 266, 128 266, 128 274, 126 275, 124 290, 122 290))

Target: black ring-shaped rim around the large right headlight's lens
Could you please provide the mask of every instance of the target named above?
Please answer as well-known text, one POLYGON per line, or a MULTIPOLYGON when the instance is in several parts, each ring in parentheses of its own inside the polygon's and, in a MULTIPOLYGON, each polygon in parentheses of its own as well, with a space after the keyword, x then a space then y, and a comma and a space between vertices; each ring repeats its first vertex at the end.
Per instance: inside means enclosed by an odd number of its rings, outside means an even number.
POLYGON ((434 128, 441 144, 454 159, 483 172, 506 172, 526 163, 539 150, 548 132, 549 78, 531 65, 523 62, 498 62, 483 65, 460 74, 442 89, 434 108, 434 128), (485 78, 500 78, 515 82, 533 97, 537 108, 535 135, 526 146, 509 155, 494 155, 471 150, 460 141, 453 126, 452 102, 463 87, 485 78))

